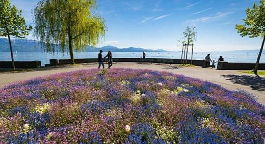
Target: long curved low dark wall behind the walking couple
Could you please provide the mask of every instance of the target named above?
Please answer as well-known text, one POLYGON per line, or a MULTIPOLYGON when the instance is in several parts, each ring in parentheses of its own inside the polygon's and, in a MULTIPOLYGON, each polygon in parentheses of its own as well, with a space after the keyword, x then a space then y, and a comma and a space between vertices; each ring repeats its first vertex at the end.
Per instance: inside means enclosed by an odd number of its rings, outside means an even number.
MULTIPOLYGON (((165 58, 113 58, 113 62, 151 62, 151 63, 168 63, 168 64, 180 64, 180 59, 165 59, 165 58)), ((74 59, 75 63, 90 63, 97 62, 97 58, 82 58, 74 59)), ((50 59, 50 66, 58 64, 70 64, 70 59, 50 59)), ((187 63, 191 63, 191 60, 187 60, 187 63)), ((197 66, 203 66, 204 60, 193 60, 192 63, 197 66)))

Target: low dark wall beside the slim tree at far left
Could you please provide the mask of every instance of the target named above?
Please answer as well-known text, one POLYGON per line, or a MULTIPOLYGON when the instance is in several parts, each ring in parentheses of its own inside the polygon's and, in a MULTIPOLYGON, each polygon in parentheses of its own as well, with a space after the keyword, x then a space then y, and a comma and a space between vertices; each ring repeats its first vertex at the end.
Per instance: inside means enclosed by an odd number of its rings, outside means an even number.
MULTIPOLYGON (((41 61, 15 61, 16 68, 40 68, 41 61)), ((0 61, 0 68, 12 68, 12 61, 0 61)))

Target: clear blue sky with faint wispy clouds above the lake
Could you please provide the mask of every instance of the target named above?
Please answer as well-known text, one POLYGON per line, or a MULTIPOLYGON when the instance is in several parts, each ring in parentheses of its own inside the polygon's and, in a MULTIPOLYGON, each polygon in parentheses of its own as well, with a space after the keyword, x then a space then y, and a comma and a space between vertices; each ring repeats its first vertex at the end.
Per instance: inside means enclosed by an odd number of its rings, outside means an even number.
MULTIPOLYGON (((32 24, 37 0, 11 0, 32 24)), ((178 41, 187 26, 197 27, 195 51, 259 49, 261 39, 242 38, 234 29, 245 10, 258 0, 98 0, 108 26, 98 46, 141 47, 179 51, 178 41)), ((32 36, 29 39, 33 39, 32 36)))

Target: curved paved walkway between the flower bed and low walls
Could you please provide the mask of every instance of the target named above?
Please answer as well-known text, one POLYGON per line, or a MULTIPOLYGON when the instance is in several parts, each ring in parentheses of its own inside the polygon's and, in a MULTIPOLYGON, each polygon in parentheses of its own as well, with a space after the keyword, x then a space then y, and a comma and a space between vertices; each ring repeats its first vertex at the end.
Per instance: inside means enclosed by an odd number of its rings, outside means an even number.
MULTIPOLYGON (((24 72, 2 72, 0 73, 0 88, 10 83, 22 80, 28 80, 35 77, 42 77, 50 74, 63 73, 66 71, 96 68, 97 63, 91 64, 77 64, 61 65, 56 67, 41 68, 38 70, 24 71, 24 72)), ((182 74, 189 77, 199 78, 202 80, 210 81, 219 84, 230 90, 242 89, 249 93, 256 95, 257 101, 265 105, 265 77, 256 77, 250 74, 239 73, 234 70, 216 70, 213 68, 201 67, 177 67, 176 65, 168 64, 138 64, 119 62, 114 64, 113 67, 126 67, 126 68, 144 68, 153 70, 169 71, 175 74, 182 74)))

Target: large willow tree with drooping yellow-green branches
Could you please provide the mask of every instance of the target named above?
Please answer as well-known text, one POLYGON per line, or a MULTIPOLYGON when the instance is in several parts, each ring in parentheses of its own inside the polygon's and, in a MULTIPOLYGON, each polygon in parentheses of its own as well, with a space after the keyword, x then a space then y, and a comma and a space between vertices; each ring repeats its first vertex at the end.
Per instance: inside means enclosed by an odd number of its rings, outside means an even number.
POLYGON ((63 53, 68 49, 74 64, 73 50, 95 46, 105 34, 104 20, 93 14, 95 9, 95 0, 42 0, 34 8, 34 34, 47 52, 54 52, 55 45, 63 53))

